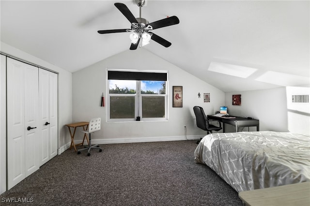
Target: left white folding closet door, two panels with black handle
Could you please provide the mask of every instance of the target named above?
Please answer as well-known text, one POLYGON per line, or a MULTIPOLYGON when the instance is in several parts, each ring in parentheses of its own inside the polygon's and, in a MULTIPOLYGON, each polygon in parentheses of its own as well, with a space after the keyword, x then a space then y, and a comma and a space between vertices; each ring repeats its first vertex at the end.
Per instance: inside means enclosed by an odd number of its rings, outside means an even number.
POLYGON ((8 189, 39 169, 38 68, 7 59, 8 189), (34 128, 27 130, 28 127, 34 128))

